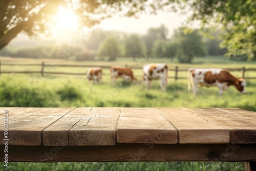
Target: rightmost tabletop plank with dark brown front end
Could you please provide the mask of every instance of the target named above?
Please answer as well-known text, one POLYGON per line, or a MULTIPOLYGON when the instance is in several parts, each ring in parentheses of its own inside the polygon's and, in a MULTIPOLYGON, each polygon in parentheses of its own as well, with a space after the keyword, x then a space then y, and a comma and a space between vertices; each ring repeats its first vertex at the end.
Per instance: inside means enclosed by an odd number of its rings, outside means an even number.
POLYGON ((231 143, 256 143, 255 112, 233 108, 186 108, 186 110, 229 129, 231 143))

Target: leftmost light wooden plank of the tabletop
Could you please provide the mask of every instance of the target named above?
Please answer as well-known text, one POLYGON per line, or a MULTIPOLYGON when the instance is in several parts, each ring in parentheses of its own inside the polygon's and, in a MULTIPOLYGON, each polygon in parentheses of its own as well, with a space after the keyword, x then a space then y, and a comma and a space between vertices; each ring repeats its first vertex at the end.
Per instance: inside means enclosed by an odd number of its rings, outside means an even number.
MULTIPOLYGON (((8 144, 41 145, 42 130, 71 110, 73 108, 20 108, 10 111, 8 144)), ((4 135, 2 127, 0 134, 4 135)))

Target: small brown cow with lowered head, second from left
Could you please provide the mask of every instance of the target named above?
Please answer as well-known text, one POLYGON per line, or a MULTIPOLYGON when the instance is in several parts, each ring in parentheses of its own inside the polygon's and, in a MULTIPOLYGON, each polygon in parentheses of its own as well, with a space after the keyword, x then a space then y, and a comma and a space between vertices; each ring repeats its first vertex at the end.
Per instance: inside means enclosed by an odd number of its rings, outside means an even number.
POLYGON ((112 83, 115 83, 115 80, 119 77, 123 77, 125 81, 135 82, 137 78, 133 75, 133 70, 128 67, 110 67, 110 75, 112 83))

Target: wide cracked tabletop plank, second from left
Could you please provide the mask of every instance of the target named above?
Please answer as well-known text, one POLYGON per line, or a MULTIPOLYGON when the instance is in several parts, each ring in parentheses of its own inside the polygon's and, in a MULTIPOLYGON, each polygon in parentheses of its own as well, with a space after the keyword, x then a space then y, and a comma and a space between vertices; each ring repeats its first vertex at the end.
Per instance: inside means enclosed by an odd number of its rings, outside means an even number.
POLYGON ((77 108, 43 131, 44 145, 114 145, 120 108, 77 108))

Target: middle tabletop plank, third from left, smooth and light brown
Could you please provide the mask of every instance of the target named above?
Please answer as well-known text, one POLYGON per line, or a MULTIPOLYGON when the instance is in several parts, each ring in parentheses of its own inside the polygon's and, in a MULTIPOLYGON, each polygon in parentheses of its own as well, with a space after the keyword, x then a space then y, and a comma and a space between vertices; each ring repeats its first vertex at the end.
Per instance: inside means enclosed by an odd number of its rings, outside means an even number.
POLYGON ((154 108, 122 108, 117 125, 118 143, 177 143, 178 132, 154 108))

